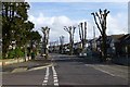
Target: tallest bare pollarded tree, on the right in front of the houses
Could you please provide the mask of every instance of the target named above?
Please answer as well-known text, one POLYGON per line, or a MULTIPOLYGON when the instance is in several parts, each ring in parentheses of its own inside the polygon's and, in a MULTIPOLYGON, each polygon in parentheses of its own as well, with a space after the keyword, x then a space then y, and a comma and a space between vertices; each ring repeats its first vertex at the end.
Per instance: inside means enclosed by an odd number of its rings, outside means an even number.
POLYGON ((106 17, 107 14, 109 13, 109 11, 107 11, 106 9, 104 11, 102 11, 100 9, 100 12, 93 12, 91 13, 94 17, 94 22, 102 35, 102 57, 103 60, 106 61, 106 57, 107 57, 107 47, 106 47, 106 40, 107 40, 107 36, 106 36, 106 17), (99 20, 99 22, 98 22, 99 20))

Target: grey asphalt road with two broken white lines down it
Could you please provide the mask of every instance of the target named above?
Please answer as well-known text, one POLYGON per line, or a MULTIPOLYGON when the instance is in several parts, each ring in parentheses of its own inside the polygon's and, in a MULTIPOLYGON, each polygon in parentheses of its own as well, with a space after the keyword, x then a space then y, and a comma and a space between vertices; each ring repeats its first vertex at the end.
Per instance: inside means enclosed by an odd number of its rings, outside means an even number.
POLYGON ((128 87, 126 66, 94 64, 64 54, 51 58, 48 66, 3 74, 3 87, 128 87))

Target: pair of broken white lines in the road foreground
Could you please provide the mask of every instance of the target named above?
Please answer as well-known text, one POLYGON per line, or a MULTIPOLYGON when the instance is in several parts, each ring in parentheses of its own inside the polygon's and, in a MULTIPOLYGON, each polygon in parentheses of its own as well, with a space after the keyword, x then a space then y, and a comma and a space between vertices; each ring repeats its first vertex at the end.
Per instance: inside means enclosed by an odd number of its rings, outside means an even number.
MULTIPOLYGON (((54 66, 52 66, 52 72, 53 72, 54 86, 58 86, 57 74, 56 74, 56 71, 54 70, 54 66)), ((44 76, 44 80, 43 80, 42 85, 48 85, 49 75, 50 75, 49 67, 47 67, 46 76, 44 76)))

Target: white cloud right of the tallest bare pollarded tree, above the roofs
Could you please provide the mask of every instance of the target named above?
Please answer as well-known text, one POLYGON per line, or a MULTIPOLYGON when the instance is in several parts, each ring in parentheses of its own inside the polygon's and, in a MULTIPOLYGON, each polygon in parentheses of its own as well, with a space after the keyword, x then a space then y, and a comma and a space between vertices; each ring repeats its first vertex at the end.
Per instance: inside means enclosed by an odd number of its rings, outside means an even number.
POLYGON ((107 35, 127 34, 127 15, 118 13, 116 16, 107 16, 107 35))

